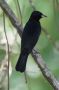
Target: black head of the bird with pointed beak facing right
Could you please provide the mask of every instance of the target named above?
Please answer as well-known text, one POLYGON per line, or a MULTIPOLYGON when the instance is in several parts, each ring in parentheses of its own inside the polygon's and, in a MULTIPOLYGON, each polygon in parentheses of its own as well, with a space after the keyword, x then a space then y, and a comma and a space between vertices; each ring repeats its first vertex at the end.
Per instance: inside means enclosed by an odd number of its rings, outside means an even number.
POLYGON ((33 11, 31 16, 30 16, 30 19, 39 21, 42 17, 47 17, 47 16, 45 16, 44 14, 42 14, 39 11, 33 11))

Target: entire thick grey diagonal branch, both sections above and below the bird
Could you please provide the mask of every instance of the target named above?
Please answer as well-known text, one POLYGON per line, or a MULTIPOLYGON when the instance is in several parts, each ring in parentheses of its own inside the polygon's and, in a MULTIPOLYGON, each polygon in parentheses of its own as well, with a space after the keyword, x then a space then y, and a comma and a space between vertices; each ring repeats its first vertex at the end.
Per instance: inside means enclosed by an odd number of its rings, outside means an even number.
MULTIPOLYGON (((3 9, 3 11, 6 13, 6 15, 9 17, 11 23, 17 29, 17 32, 21 36, 23 28, 20 25, 19 21, 17 20, 15 14, 12 12, 10 7, 4 0, 0 0, 0 6, 3 9)), ((50 85, 54 88, 54 90, 59 90, 59 82, 56 80, 54 75, 47 68, 47 65, 43 62, 41 55, 39 55, 39 53, 33 49, 32 56, 34 57, 34 60, 38 64, 39 68, 41 69, 43 76, 47 79, 50 85)))

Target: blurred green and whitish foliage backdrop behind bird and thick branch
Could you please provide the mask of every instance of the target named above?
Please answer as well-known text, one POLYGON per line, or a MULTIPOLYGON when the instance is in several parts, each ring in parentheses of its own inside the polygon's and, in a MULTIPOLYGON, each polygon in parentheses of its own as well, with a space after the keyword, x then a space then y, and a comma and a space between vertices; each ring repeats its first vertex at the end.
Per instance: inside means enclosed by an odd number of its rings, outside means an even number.
MULTIPOLYGON (((47 18, 40 20, 42 32, 35 48, 40 52, 48 68, 59 80, 59 0, 6 0, 17 16, 20 23, 25 26, 31 12, 32 5, 36 10, 44 13, 47 18)), ((31 54, 27 60, 26 72, 15 70, 20 55, 21 38, 12 26, 8 17, 0 8, 0 90, 8 90, 8 63, 7 44, 4 26, 9 43, 9 89, 10 90, 53 90, 43 77, 31 54), (3 78, 3 79, 2 79, 3 78)))

